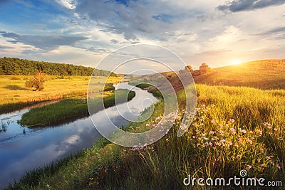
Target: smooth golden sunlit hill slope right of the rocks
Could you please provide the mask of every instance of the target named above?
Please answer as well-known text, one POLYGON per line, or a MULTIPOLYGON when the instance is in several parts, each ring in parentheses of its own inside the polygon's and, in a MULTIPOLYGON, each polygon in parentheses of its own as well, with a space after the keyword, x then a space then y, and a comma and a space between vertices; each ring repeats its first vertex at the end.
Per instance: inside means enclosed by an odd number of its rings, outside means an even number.
POLYGON ((285 59, 256 60, 213 68, 194 78, 208 85, 247 86, 261 89, 285 89, 285 59))

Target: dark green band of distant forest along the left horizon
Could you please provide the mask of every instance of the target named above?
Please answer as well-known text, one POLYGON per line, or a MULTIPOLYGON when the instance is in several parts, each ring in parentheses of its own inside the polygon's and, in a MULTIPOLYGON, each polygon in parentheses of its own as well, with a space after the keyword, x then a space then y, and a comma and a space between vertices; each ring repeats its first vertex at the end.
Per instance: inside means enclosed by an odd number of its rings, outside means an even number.
MULTIPOLYGON (((38 70, 48 75, 108 76, 110 71, 99 70, 81 65, 48 63, 19 58, 0 58, 0 75, 34 75, 38 70)), ((115 73, 111 73, 115 76, 115 73)))

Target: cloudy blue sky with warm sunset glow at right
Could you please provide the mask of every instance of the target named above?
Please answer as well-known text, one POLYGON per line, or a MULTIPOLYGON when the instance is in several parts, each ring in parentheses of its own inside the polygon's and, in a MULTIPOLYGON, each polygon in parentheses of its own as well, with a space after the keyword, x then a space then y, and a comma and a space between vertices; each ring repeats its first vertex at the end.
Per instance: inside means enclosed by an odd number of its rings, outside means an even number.
POLYGON ((285 0, 0 0, 0 57, 95 67, 140 43, 193 68, 285 58, 285 0))

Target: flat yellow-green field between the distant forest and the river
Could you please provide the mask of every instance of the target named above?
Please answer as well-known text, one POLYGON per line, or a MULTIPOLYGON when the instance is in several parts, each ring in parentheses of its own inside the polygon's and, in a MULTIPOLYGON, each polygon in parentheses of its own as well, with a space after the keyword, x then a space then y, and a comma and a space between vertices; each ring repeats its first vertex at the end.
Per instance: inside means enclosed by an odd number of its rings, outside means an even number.
MULTIPOLYGON (((44 100, 56 100, 65 97, 86 95, 90 77, 87 76, 48 76, 42 91, 33 91, 25 87, 32 76, 0 75, 0 113, 20 109, 26 105, 44 100)), ((93 77, 98 80, 93 93, 103 89, 105 77, 93 77)), ((121 78, 110 77, 108 83, 118 83, 121 78)))

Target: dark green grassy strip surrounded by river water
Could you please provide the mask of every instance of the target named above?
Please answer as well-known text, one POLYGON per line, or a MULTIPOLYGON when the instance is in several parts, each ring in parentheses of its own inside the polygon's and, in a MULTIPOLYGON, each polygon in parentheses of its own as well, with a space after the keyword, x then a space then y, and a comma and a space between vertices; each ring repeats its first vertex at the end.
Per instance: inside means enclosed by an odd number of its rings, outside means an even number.
MULTIPOLYGON (((115 105, 115 98, 118 103, 125 102, 128 95, 128 101, 135 97, 134 91, 119 89, 104 97, 104 107, 115 105)), ((103 110, 101 99, 94 100, 92 106, 96 111, 103 110)), ((21 125, 28 127, 58 125, 63 122, 76 120, 89 115, 86 99, 72 98, 61 100, 51 105, 36 107, 26 112, 19 121, 21 125)))

